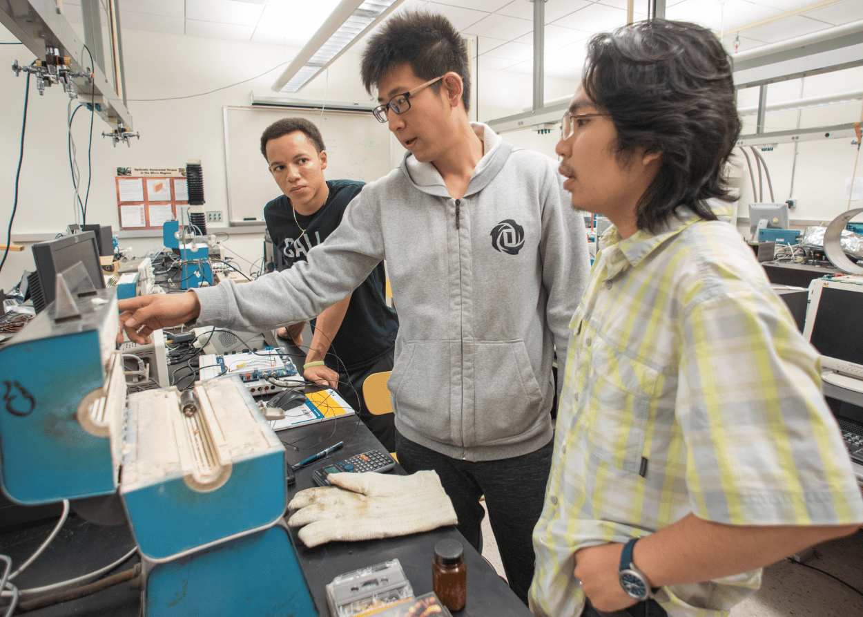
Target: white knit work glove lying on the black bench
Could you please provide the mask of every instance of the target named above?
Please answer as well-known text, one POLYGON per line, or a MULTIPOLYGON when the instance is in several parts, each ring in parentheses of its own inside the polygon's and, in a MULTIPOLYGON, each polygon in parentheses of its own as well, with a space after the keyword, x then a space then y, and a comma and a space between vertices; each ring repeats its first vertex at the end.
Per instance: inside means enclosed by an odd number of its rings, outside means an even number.
POLYGON ((458 519, 438 474, 330 474, 334 486, 306 488, 294 495, 288 519, 302 527, 299 539, 309 548, 331 540, 369 540, 404 536, 456 525, 458 519))

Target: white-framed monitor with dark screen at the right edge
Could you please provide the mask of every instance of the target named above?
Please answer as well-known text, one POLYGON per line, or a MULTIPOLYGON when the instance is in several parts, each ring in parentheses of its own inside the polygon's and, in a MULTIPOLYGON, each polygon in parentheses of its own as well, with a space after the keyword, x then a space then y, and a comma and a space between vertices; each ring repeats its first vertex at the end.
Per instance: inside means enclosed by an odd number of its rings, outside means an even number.
POLYGON ((818 278, 809 284, 805 336, 822 355, 822 366, 863 379, 863 345, 856 334, 863 315, 863 285, 818 278))

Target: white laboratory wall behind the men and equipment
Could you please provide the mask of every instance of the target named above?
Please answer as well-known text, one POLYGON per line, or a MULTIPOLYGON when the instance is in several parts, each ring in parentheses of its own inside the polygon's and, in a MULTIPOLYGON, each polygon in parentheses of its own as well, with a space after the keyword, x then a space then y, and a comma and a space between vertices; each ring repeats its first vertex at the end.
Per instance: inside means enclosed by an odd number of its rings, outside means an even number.
MULTIPOLYGON (((0 41, 15 41, 0 27, 0 41)), ((92 145, 88 148, 91 115, 79 109, 72 124, 76 148, 75 161, 80 174, 79 196, 87 203, 86 221, 118 228, 117 194, 114 177, 117 167, 180 167, 189 159, 199 159, 204 170, 205 209, 222 213, 228 219, 224 149, 224 105, 249 105, 254 90, 273 95, 270 90, 280 72, 298 52, 297 48, 259 43, 167 35, 124 29, 123 54, 127 81, 129 111, 133 130, 140 139, 129 146, 112 145, 102 137, 109 130, 98 116, 92 124, 92 145), (238 83, 243 82, 243 83, 238 83), (201 96, 203 92, 208 92, 201 96), (89 161, 89 162, 88 162, 89 161), (87 194, 88 173, 90 190, 87 194)), ((343 54, 324 74, 302 91, 298 99, 353 101, 371 103, 359 79, 358 65, 362 44, 343 54)), ((0 220, 3 239, 16 199, 16 170, 22 143, 22 111, 26 78, 16 77, 9 68, 13 60, 26 64, 33 54, 21 45, 0 46, 0 220)), ((580 60, 579 60, 580 61, 580 60)), ((815 93, 842 92, 863 81, 863 68, 827 73, 805 80, 795 80, 770 87, 768 100, 795 99, 815 93), (852 85, 852 86, 849 86, 852 85)), ((569 96, 576 87, 572 80, 545 79, 545 100, 569 96)), ((472 118, 488 121, 502 118, 532 105, 532 77, 529 74, 502 73, 480 67, 476 71, 476 115, 472 118)), ((72 188, 68 151, 67 114, 79 105, 56 86, 39 96, 31 83, 23 161, 18 182, 17 210, 12 227, 12 239, 27 246, 26 251, 10 252, 0 272, 0 289, 9 289, 21 278, 23 270, 32 270, 29 245, 48 239, 79 222, 76 199, 72 188)), ((741 92, 740 105, 754 105, 757 92, 741 92)), ((860 120, 860 101, 831 105, 800 113, 801 125, 840 124, 860 120)), ((794 128, 797 111, 767 116, 767 129, 794 128)), ((290 111, 286 110, 286 115, 290 111)), ((752 118, 749 117, 751 124, 752 118)), ((369 118, 369 122, 374 120, 369 118)), ((744 133, 753 132, 747 125, 744 133)), ((249 135, 255 141, 260 136, 249 135)), ((533 130, 507 133, 507 140, 517 145, 537 149, 554 157, 557 130, 539 135, 533 130)), ((399 143, 391 141, 390 163, 401 158, 399 143)), ((752 200, 748 170, 740 150, 737 150, 740 171, 735 182, 741 191, 740 216, 746 217, 746 203, 752 200)), ((849 139, 823 139, 816 142, 779 144, 761 153, 771 174, 774 199, 797 199, 791 213, 795 221, 828 221, 847 207, 845 182, 852 175, 857 149, 849 139), (793 176, 793 188, 791 179, 793 176)), ((261 157, 261 165, 266 162, 261 157)), ((863 167, 863 166, 861 166, 863 167)), ((858 169, 857 175, 863 175, 858 169)), ((273 196, 278 188, 273 186, 273 196)), ((766 181, 763 200, 768 199, 766 181)), ((860 206, 860 201, 851 207, 860 206)), ((263 204, 261 204, 261 208, 263 204)), ((213 226, 211 226, 212 228, 213 226)), ((215 226, 215 229, 219 229, 215 226)), ((227 227, 225 254, 236 259, 236 266, 249 272, 260 267, 262 228, 227 227)), ((153 232, 120 233, 123 247, 142 254, 161 244, 153 232)), ((221 236, 225 238, 224 235, 221 236)))

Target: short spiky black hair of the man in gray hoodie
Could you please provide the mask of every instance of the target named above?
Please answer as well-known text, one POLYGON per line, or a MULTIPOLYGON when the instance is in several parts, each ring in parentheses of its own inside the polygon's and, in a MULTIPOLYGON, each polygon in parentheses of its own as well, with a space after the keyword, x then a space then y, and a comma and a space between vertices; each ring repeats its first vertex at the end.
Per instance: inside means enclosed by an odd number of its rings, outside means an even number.
MULTIPOLYGON (((463 82, 464 111, 470 110, 470 65, 462 35, 441 15, 406 11, 390 17, 362 53, 360 74, 369 94, 383 76, 407 64, 420 80, 433 80, 450 71, 463 82)), ((440 82, 432 84, 440 92, 440 82)))

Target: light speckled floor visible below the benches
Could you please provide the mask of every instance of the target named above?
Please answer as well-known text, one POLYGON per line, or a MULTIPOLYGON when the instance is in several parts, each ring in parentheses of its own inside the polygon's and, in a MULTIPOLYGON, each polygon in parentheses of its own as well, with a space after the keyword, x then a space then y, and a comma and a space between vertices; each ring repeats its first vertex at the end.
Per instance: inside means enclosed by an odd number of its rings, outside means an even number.
MULTIPOLYGON (((482 520, 482 556, 503 576, 488 516, 482 520)), ((803 563, 863 592, 863 531, 819 544, 815 557, 803 563)), ((765 568, 761 588, 734 607, 731 617, 863 617, 863 595, 821 572, 783 560, 765 568)))

